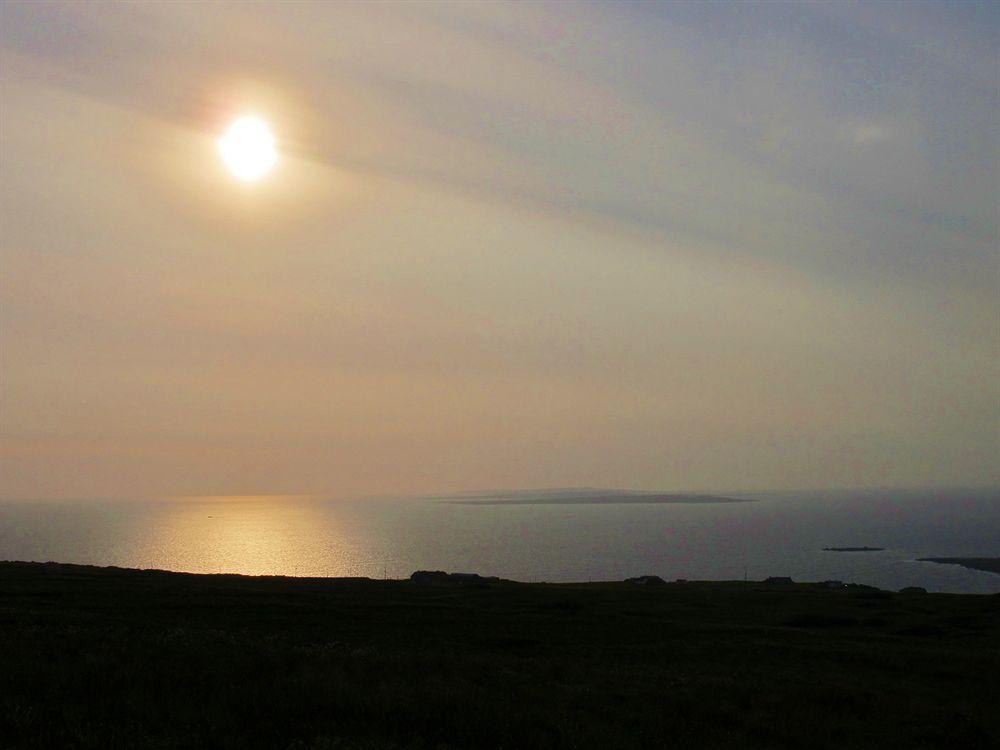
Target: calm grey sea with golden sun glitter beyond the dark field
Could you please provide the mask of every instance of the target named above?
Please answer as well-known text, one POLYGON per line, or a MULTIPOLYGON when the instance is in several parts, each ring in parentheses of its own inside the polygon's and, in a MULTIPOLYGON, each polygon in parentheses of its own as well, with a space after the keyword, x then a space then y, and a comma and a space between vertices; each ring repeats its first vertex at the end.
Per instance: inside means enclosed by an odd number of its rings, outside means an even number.
MULTIPOLYGON (((475 499, 489 499, 477 494, 475 499)), ((197 573, 521 581, 838 579, 992 594, 1000 575, 919 557, 1000 556, 996 490, 740 494, 740 503, 203 497, 0 501, 0 559, 197 573), (824 547, 884 547, 827 552, 824 547)))

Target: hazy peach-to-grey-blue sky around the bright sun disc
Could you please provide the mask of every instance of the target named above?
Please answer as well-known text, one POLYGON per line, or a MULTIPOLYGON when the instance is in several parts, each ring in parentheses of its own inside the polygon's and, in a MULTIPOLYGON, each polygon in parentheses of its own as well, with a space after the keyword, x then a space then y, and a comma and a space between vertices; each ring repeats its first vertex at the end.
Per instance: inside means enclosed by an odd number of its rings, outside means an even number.
POLYGON ((0 494, 996 484, 998 30, 2 2, 0 494))

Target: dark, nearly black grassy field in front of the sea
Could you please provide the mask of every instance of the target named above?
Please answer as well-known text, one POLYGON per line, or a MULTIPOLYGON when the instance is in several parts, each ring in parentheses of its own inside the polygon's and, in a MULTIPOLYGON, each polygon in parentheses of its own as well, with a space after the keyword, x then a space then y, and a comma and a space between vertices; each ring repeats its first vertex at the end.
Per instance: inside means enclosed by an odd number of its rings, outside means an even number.
POLYGON ((4 748, 987 748, 1000 596, 0 563, 4 748))

